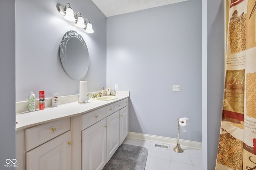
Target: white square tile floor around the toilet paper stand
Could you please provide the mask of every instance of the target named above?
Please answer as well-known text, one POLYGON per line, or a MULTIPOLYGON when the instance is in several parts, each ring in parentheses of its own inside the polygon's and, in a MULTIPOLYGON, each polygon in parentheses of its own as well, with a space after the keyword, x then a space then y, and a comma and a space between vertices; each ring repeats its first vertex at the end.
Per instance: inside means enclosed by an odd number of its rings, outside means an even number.
MULTIPOLYGON (((175 145, 168 145, 169 149, 156 148, 152 141, 126 138, 124 144, 136 145, 148 149, 145 170, 202 170, 202 150, 182 147, 183 153, 173 150, 175 145)), ((166 145, 166 144, 162 144, 166 145)))

